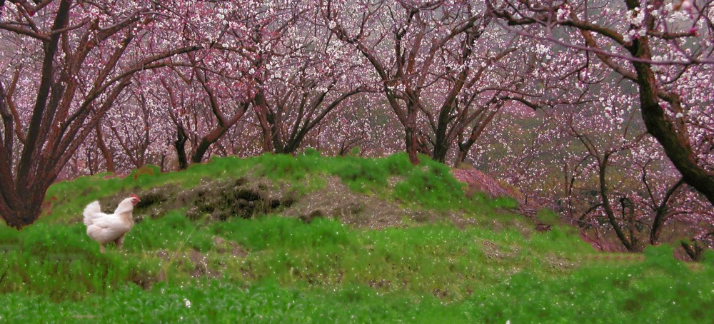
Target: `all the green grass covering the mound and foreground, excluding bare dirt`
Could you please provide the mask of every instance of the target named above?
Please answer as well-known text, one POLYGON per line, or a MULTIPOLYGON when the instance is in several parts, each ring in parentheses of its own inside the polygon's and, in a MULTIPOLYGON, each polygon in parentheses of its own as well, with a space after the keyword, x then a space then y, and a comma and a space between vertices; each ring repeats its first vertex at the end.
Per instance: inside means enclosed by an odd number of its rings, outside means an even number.
POLYGON ((0 227, 0 322, 714 320, 711 251, 698 264, 675 260, 668 245, 641 255, 596 253, 553 215, 540 214, 553 230, 538 233, 504 210, 510 199, 464 197, 448 168, 422 159, 411 166, 402 154, 217 158, 178 173, 145 168, 57 183, 51 214, 23 231, 0 227), (101 254, 80 223, 96 198, 170 183, 190 190, 202 179, 246 174, 302 183, 301 193, 338 176, 353 191, 458 211, 473 225, 444 218, 376 231, 279 215, 191 221, 182 208, 144 218, 124 252, 109 245, 101 254))

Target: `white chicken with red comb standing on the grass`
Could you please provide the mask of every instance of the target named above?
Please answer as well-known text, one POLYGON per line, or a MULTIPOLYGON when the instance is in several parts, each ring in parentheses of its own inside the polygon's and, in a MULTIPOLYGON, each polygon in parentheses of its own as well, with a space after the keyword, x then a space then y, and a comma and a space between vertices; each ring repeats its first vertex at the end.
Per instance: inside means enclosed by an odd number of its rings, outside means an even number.
POLYGON ((114 241, 116 247, 121 251, 124 244, 124 234, 129 232, 134 226, 134 218, 131 212, 134 211, 136 203, 141 201, 139 196, 131 195, 116 206, 113 214, 101 212, 99 201, 94 201, 84 208, 84 225, 87 226, 87 235, 94 241, 99 242, 99 250, 104 253, 104 245, 114 241))

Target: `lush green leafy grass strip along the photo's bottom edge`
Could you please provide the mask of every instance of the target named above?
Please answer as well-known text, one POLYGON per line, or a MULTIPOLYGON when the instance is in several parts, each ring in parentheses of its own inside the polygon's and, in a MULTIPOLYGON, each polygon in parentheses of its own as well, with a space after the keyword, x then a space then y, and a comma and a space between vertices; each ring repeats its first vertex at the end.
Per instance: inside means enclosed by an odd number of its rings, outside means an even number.
POLYGON ((151 290, 126 286, 106 297, 52 303, 44 296, 0 295, 0 320, 299 323, 711 323, 714 314, 709 264, 689 270, 654 248, 645 262, 599 265, 543 278, 532 270, 502 274, 462 300, 444 303, 432 294, 380 293, 366 284, 312 289, 275 280, 231 283, 197 280, 159 283, 151 290), (17 307, 24 305, 24 307, 17 307))

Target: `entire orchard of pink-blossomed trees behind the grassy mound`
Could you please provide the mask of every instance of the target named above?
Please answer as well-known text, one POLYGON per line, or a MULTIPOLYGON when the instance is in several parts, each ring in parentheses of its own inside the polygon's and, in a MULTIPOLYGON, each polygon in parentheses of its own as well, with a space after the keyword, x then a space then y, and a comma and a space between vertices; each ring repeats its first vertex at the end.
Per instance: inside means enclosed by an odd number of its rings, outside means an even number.
POLYGON ((406 151, 592 241, 698 258, 713 21, 703 0, 0 0, 0 215, 22 228, 54 181, 147 163, 406 151))

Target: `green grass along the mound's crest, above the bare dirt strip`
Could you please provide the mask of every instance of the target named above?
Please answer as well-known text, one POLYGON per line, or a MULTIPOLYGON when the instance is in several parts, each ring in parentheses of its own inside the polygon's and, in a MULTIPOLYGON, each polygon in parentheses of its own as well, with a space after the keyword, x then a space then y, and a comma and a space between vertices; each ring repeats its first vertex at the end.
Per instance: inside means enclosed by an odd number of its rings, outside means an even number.
POLYGON ((62 181, 49 188, 46 198, 51 213, 48 221, 68 221, 81 214, 84 206, 108 196, 176 184, 184 190, 198 186, 202 179, 265 177, 276 186, 289 183, 301 196, 323 188, 325 176, 336 176, 352 191, 366 193, 404 206, 435 211, 461 210, 486 215, 501 208, 515 207, 511 198, 491 200, 463 195, 463 183, 456 181, 448 167, 421 156, 419 166, 409 163, 406 153, 386 158, 322 157, 316 153, 299 156, 265 154, 251 158, 213 158, 186 171, 161 173, 156 166, 135 170, 126 177, 109 173, 62 181))

